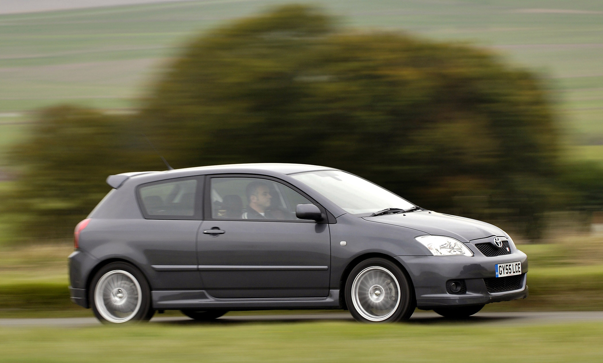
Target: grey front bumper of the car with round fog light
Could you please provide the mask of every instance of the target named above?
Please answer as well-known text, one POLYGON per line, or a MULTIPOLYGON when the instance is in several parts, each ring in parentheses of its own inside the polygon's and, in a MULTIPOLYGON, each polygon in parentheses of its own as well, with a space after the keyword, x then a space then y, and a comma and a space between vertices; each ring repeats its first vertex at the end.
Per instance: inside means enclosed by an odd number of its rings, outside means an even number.
MULTIPOLYGON (((472 248, 473 249, 473 248, 472 248)), ((504 256, 397 256, 408 271, 415 289, 417 308, 429 310, 443 306, 482 305, 516 300, 528 296, 528 258, 515 250, 504 256), (522 275, 516 286, 500 292, 489 292, 486 282, 495 278, 494 265, 520 261, 522 275), (484 280, 486 279, 486 280, 484 280), (450 280, 463 280, 466 292, 453 294, 446 289, 450 280)), ((497 279, 505 279, 499 277, 497 279)), ((490 291, 493 291, 490 289, 490 291)))

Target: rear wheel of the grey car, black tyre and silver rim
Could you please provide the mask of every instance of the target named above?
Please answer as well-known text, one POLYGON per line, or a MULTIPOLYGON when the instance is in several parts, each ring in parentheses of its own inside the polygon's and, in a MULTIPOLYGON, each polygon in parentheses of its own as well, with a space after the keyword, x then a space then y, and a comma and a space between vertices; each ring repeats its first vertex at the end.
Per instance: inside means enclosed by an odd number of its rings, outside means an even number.
POLYGON ((147 279, 125 262, 103 266, 96 272, 88 291, 92 311, 101 323, 148 321, 155 314, 147 279))

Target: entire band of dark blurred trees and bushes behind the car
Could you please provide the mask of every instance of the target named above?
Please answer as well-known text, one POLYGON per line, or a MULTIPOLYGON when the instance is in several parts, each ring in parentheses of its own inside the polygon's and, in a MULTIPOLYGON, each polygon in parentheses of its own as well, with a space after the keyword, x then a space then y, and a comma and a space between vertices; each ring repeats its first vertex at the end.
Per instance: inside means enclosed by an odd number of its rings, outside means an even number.
POLYGON ((16 191, 3 206, 19 235, 68 236, 107 175, 165 168, 144 133, 174 168, 332 166, 538 239, 546 211, 603 205, 599 166, 561 157, 554 99, 538 75, 483 49, 286 5, 192 39, 134 115, 41 110, 11 153, 16 191))

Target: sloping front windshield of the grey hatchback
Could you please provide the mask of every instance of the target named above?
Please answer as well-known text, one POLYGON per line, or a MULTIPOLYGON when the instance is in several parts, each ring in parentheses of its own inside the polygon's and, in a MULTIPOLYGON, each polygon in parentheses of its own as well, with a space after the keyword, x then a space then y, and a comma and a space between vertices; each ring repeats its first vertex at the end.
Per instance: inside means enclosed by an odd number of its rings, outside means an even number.
POLYGON ((352 214, 374 213, 386 208, 414 207, 414 204, 396 194, 344 171, 300 172, 291 177, 308 185, 352 214))

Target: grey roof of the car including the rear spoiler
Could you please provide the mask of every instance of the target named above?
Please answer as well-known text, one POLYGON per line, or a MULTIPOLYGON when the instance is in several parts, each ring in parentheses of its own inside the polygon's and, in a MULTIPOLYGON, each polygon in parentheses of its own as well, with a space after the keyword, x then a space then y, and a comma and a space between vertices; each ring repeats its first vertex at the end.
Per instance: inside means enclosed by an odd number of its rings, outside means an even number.
POLYGON ((290 163, 248 163, 248 164, 226 164, 212 166, 196 166, 194 168, 173 169, 166 171, 139 171, 124 172, 116 175, 109 175, 107 184, 112 188, 119 188, 126 180, 135 179, 137 183, 152 182, 168 178, 188 177, 191 175, 203 174, 267 174, 267 175, 288 175, 297 172, 317 171, 317 170, 337 170, 327 166, 308 165, 308 164, 290 164, 290 163))

